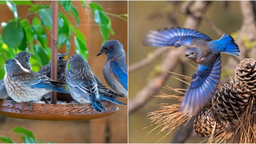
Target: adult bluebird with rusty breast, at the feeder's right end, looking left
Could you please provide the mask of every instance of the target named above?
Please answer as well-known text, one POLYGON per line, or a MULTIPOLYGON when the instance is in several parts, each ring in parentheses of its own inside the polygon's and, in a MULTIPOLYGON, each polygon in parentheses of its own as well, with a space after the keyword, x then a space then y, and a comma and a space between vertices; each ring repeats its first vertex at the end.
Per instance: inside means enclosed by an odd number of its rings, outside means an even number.
POLYGON ((108 56, 103 67, 107 84, 116 93, 128 97, 128 71, 123 45, 116 40, 110 40, 102 46, 97 56, 102 53, 108 56))

